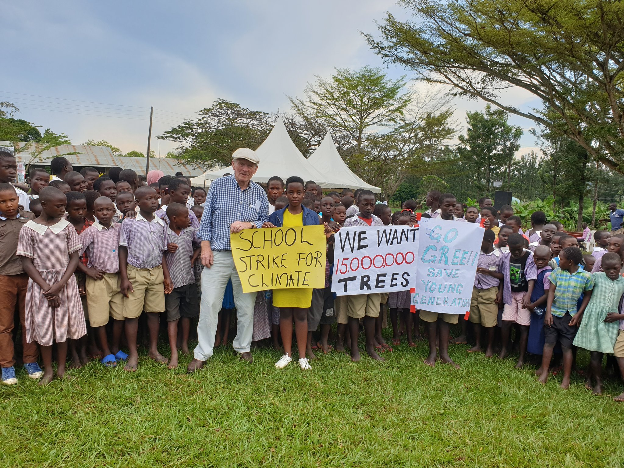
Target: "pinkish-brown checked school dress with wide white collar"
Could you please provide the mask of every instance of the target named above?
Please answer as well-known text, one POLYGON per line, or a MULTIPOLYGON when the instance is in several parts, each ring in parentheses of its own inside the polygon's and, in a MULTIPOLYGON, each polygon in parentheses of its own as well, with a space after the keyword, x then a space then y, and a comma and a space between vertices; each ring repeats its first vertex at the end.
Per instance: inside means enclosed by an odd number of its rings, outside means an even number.
MULTIPOLYGON (((19 232, 17 255, 32 258, 46 283, 54 285, 69 265, 69 254, 82 248, 76 229, 64 219, 53 226, 34 221, 27 222, 19 232)), ((52 346, 53 341, 62 343, 67 337, 78 339, 87 334, 84 312, 76 277, 59 292, 61 306, 51 309, 39 285, 28 280, 26 293, 26 342, 36 341, 41 346, 52 346)))

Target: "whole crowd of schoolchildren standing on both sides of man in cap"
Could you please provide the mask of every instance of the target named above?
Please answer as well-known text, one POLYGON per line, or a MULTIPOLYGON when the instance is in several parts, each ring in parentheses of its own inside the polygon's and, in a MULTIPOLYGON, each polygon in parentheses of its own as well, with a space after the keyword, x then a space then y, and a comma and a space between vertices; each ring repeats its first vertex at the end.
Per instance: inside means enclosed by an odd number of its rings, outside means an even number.
MULTIPOLYGON (((200 227, 207 192, 192 188, 181 174, 152 170, 141 180, 134 170, 73 170, 63 157, 51 162, 52 175, 29 172, 29 185, 16 178, 16 160, 0 151, 0 365, 2 383, 17 383, 15 324, 21 323, 22 356, 27 376, 49 383, 57 362, 59 378, 90 359, 107 367, 125 362, 137 369, 139 341, 150 358, 178 366, 178 349, 188 354, 193 320, 201 297, 200 227), (166 321, 170 357, 158 351, 161 314, 166 321), (53 348, 54 344, 54 348, 53 348), (129 353, 122 351, 127 349, 129 353), (53 353, 54 351, 54 353, 53 353), (39 359, 44 369, 39 366, 39 359)), ((577 348, 590 351, 586 386, 602 394, 603 355, 610 373, 624 375, 624 234, 598 230, 592 255, 579 239, 544 213, 522 220, 505 205, 494 210, 482 198, 479 208, 464 207, 451 193, 427 194, 429 210, 418 217, 480 223, 485 228, 477 275, 466 316, 410 309, 409 291, 334 296, 331 293, 333 241, 340 227, 416 225, 417 203, 408 200, 392 212, 373 192, 343 189, 323 195, 312 181, 280 177, 266 184, 269 223, 277 227, 325 225, 328 239, 325 288, 262 291, 256 296, 253 342, 283 351, 276 368, 291 360, 293 325, 299 364, 310 369, 315 352, 348 350, 360 359, 364 332, 371 358, 401 344, 416 346, 426 334, 429 355, 457 366, 449 343, 474 344, 470 353, 487 358, 519 355, 540 359, 536 371, 546 383, 552 373, 570 385, 577 348), (382 330, 390 319, 391 343, 382 330), (421 331, 421 322, 424 330, 421 331), (336 323, 336 328, 333 327, 336 323), (451 325, 459 335, 451 339, 451 325), (265 343, 266 342, 266 343, 265 343), (541 358, 539 358, 541 356, 541 358)), ((590 231, 581 241, 591 241, 590 231)), ((215 347, 228 343, 235 304, 232 286, 218 316, 215 347)), ((624 401, 624 393, 615 397, 624 401)))

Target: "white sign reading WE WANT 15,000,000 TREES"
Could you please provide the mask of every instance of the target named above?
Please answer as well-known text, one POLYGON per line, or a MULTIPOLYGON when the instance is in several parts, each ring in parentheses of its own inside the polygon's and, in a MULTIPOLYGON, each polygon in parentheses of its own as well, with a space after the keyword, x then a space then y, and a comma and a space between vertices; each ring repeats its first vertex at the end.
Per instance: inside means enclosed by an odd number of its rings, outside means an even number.
POLYGON ((417 228, 346 227, 334 239, 331 290, 336 295, 391 293, 416 284, 417 228))

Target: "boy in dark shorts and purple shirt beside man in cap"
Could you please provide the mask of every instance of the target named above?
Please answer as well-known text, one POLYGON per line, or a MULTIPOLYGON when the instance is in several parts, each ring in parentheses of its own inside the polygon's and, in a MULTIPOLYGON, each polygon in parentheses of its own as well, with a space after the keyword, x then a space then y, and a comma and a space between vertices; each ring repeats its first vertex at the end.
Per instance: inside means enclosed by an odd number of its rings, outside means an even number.
POLYGON ((171 348, 169 369, 178 366, 178 321, 182 323, 182 353, 188 351, 188 332, 191 319, 199 316, 197 284, 193 273, 193 261, 199 256, 201 243, 191 227, 188 208, 182 203, 169 203, 167 218, 167 251, 165 260, 172 278, 173 290, 165 295, 167 310, 167 334, 171 348))

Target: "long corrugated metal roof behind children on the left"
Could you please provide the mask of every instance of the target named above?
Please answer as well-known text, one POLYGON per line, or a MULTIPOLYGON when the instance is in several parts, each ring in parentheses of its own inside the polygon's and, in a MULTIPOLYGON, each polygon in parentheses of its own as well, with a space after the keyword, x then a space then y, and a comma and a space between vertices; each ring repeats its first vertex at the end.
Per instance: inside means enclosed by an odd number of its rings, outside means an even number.
MULTIPOLYGON (((18 143, 17 148, 24 147, 26 143, 18 143)), ((125 156, 114 156, 107 146, 84 146, 84 145, 61 145, 47 150, 42 154, 42 158, 36 162, 31 161, 29 152, 17 152, 17 162, 31 163, 31 165, 49 165, 52 158, 62 154, 78 153, 66 156, 66 158, 76 166, 90 167, 121 167, 132 169, 139 175, 145 175, 145 158, 130 158, 125 156)), ((177 159, 170 158, 150 158, 150 170, 159 169, 165 174, 175 174, 182 172, 184 175, 195 177, 203 174, 203 170, 192 168, 181 164, 177 159)))

